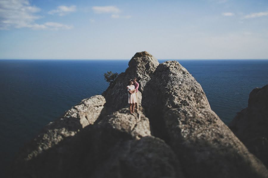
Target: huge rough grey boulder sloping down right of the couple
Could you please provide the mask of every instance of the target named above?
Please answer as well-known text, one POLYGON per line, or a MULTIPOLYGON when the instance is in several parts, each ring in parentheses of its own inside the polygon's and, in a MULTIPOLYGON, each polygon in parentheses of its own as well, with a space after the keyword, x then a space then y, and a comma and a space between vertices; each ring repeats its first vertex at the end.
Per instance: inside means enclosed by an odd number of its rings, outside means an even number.
POLYGON ((210 109, 200 84, 177 61, 160 64, 144 88, 142 106, 152 134, 164 139, 183 163, 186 177, 267 177, 210 109))

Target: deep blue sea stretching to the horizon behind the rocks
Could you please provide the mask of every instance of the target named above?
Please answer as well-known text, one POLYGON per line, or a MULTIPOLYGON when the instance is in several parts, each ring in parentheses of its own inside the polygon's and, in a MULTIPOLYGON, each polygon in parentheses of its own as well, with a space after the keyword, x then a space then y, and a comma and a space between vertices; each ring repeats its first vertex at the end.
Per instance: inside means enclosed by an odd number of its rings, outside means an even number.
MULTIPOLYGON (((1 174, 24 143, 82 99, 101 94, 109 85, 103 74, 124 72, 128 61, 0 60, 1 174)), ((247 107, 254 88, 268 84, 268 60, 177 61, 226 124, 247 107)))

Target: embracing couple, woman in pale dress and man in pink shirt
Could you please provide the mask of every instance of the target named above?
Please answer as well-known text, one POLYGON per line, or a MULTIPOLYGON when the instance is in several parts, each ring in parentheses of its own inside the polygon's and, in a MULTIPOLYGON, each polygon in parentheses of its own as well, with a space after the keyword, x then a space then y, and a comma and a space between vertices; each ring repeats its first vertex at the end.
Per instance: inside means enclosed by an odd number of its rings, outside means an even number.
POLYGON ((138 92, 139 84, 137 82, 137 78, 134 77, 134 79, 129 81, 129 85, 127 86, 127 92, 128 92, 128 103, 129 103, 129 109, 130 114, 134 112, 135 105, 137 107, 138 111, 138 95, 136 93, 138 92))

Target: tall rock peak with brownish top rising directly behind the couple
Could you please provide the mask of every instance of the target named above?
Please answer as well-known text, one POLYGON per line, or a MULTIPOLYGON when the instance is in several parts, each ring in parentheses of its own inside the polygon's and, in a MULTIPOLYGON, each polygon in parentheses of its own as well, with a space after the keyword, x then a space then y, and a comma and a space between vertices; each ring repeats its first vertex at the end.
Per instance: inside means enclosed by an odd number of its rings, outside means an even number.
POLYGON ((112 111, 128 106, 126 87, 129 85, 129 80, 137 77, 138 83, 140 84, 139 91, 142 92, 146 82, 150 80, 152 73, 159 63, 157 59, 144 51, 136 53, 128 65, 129 67, 126 71, 119 74, 118 78, 102 93, 106 99, 107 107, 110 107, 112 111))

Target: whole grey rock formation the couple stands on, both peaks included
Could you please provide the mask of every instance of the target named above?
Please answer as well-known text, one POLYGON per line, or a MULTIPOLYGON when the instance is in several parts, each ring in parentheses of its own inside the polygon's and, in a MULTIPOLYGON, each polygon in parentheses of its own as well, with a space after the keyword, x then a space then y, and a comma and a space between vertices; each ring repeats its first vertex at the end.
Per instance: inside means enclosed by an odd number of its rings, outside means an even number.
POLYGON ((46 126, 11 169, 10 177, 40 178, 268 177, 210 109, 191 74, 174 61, 159 65, 147 52, 136 53, 102 96, 46 126), (124 101, 133 77, 141 107, 131 115, 124 101))

